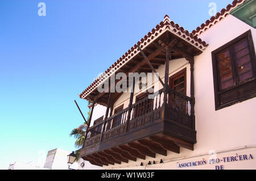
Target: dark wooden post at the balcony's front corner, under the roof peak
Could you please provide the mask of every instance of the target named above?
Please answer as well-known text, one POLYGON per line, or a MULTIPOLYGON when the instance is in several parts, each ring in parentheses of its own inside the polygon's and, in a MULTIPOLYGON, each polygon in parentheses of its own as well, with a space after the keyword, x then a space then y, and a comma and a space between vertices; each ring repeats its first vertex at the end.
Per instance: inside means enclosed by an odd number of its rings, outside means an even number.
POLYGON ((168 80, 169 80, 169 61, 171 60, 171 50, 169 47, 166 47, 166 70, 164 74, 164 118, 167 118, 167 113, 168 113, 168 80))

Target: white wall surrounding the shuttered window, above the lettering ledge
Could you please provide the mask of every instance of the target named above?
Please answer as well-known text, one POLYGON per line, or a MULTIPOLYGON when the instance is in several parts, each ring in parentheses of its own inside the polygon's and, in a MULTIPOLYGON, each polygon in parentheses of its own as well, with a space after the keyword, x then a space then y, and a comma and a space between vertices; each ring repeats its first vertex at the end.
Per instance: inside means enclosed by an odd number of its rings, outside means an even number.
POLYGON ((215 111, 212 51, 251 30, 254 47, 256 31, 232 15, 226 16, 199 37, 209 45, 195 57, 195 152, 222 150, 256 144, 256 98, 215 111))

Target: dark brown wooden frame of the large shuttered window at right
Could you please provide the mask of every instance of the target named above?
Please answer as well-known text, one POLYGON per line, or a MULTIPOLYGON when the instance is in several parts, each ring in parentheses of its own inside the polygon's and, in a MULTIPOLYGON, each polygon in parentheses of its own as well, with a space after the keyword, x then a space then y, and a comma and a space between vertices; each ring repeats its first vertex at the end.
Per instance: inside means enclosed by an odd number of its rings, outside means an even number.
MULTIPOLYGON (((234 64, 234 58, 233 58, 233 54, 232 56, 232 64, 234 64)), ((212 52, 212 66, 213 66, 213 83, 214 83, 214 99, 215 99, 215 110, 220 110, 222 108, 225 107, 229 107, 232 106, 233 104, 239 103, 239 102, 243 102, 247 99, 251 99, 254 98, 256 96, 256 91, 253 92, 253 94, 251 95, 241 95, 241 96, 237 96, 237 98, 235 100, 230 100, 228 103, 224 103, 224 104, 220 104, 220 94, 225 94, 226 92, 232 92, 232 91, 239 91, 239 89, 243 89, 246 85, 248 85, 249 83, 251 83, 253 86, 255 86, 256 84, 256 61, 255 61, 255 49, 254 49, 254 43, 253 43, 253 37, 251 36, 251 30, 246 31, 245 33, 243 33, 242 35, 236 37, 235 39, 229 41, 228 43, 226 43, 225 45, 222 45, 220 48, 214 50, 212 52), (228 87, 227 89, 224 90, 220 90, 220 86, 219 86, 219 78, 218 78, 218 70, 217 70, 217 61, 216 61, 216 54, 221 52, 222 50, 229 48, 230 46, 234 45, 235 43, 237 43, 237 41, 240 41, 243 38, 247 38, 248 41, 248 48, 249 48, 249 56, 250 56, 250 61, 251 61, 251 69, 253 71, 253 77, 250 79, 247 79, 246 81, 243 81, 241 83, 239 83, 237 85, 237 74, 235 74, 235 86, 232 87, 228 87), (237 90, 234 90, 237 89, 237 90)), ((232 70, 232 73, 235 73, 236 69, 232 70)))

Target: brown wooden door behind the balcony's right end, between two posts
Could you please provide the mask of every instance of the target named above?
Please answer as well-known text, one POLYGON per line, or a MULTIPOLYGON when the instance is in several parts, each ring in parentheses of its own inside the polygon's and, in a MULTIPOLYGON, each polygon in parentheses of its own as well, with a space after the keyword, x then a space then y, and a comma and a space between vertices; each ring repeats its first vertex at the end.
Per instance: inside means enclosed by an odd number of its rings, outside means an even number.
MULTIPOLYGON (((186 69, 179 71, 178 73, 172 75, 169 79, 169 86, 171 89, 186 95, 187 93, 187 77, 186 69)), ((187 104, 184 100, 181 100, 177 95, 169 96, 168 100, 169 106, 174 110, 185 113, 187 111, 187 104)))

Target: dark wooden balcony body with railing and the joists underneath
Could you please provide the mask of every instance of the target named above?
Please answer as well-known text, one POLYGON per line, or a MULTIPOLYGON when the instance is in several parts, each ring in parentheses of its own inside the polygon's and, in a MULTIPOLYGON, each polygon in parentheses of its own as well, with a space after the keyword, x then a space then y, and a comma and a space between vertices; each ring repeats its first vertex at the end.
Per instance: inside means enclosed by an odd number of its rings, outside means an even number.
POLYGON ((193 150, 194 100, 171 89, 167 93, 167 103, 162 89, 153 99, 146 97, 90 127, 80 157, 93 165, 108 166, 155 158, 155 154, 167 156, 167 150, 180 153, 180 146, 193 150))

